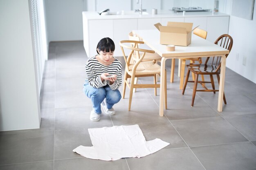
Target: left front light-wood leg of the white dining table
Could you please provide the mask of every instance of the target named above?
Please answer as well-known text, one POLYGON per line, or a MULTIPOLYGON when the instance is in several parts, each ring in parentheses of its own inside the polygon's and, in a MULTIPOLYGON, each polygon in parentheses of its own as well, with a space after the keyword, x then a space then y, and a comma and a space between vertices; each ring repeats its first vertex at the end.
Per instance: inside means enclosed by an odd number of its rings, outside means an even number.
POLYGON ((161 77, 160 77, 160 101, 159 101, 159 116, 164 116, 164 82, 166 81, 165 78, 165 62, 166 58, 162 57, 161 59, 161 77))

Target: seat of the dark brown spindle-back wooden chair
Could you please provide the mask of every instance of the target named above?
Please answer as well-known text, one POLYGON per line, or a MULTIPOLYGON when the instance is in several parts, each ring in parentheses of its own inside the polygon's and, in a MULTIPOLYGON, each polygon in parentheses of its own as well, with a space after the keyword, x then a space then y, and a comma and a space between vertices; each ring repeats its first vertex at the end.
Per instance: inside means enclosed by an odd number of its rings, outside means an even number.
POLYGON ((187 68, 193 72, 193 73, 197 73, 197 74, 219 74, 219 71, 216 71, 216 69, 218 68, 218 66, 214 66, 214 65, 209 65, 209 64, 189 64, 187 65, 187 68))

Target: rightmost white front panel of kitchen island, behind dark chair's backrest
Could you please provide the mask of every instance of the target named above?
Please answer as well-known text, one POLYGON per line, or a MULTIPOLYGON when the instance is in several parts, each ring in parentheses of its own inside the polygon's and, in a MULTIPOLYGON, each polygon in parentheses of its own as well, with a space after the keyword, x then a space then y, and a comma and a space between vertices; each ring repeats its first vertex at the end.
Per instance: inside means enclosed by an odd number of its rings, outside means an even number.
POLYGON ((222 34, 229 31, 229 16, 207 17, 207 40, 215 42, 222 34))

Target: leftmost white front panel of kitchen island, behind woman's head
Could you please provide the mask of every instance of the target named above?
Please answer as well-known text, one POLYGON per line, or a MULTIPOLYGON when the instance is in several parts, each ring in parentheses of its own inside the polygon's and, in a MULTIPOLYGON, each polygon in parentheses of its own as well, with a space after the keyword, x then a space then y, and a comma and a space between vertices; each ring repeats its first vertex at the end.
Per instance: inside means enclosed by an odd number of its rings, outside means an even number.
POLYGON ((104 37, 114 39, 113 20, 89 20, 88 32, 85 34, 88 35, 88 44, 85 47, 88 51, 85 51, 88 57, 92 57, 97 54, 96 48, 99 40, 104 37))

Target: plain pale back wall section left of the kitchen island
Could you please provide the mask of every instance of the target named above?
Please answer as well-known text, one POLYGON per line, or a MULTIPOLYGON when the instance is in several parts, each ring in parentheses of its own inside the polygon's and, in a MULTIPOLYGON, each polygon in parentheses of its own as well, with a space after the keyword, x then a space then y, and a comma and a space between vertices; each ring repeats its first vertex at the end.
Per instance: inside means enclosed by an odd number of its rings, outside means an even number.
POLYGON ((83 40, 82 11, 86 3, 86 0, 45 0, 48 42, 83 40))

